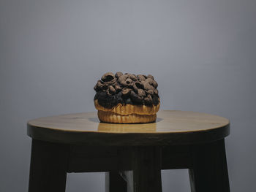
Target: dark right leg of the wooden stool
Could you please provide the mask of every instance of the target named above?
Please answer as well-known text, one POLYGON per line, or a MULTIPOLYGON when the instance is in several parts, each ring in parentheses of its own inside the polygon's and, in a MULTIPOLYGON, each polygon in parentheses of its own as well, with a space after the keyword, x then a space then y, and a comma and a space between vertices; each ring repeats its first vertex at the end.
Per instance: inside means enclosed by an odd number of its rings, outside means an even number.
POLYGON ((192 147, 189 169, 192 192, 230 192, 224 139, 192 147))

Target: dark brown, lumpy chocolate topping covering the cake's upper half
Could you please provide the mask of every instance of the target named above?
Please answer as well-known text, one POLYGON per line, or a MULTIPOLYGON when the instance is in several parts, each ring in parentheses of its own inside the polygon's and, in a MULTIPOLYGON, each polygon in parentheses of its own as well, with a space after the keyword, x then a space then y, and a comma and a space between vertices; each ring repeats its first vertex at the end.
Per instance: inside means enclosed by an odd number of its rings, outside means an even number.
POLYGON ((94 90, 97 92, 94 100, 102 107, 112 108, 116 104, 159 104, 157 82, 151 74, 143 75, 122 72, 103 74, 97 81, 94 90))

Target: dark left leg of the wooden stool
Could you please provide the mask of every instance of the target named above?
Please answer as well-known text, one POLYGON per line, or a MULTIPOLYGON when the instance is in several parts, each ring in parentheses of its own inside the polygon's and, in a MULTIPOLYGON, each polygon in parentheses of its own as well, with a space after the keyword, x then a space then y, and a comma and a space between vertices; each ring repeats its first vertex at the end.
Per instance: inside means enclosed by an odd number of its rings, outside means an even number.
POLYGON ((29 192, 64 192, 69 147, 32 140, 29 192))

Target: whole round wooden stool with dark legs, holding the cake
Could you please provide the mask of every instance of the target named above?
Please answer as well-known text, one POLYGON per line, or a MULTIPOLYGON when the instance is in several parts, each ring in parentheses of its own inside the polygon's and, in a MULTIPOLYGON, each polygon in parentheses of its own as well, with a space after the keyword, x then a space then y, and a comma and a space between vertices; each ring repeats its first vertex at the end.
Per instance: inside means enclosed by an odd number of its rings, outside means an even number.
POLYGON ((67 172, 108 172, 110 192, 162 191, 161 169, 182 168, 194 192, 230 191, 230 122, 217 115, 168 110, 156 123, 113 124, 85 112, 30 120, 27 133, 30 192, 65 191, 67 172))

